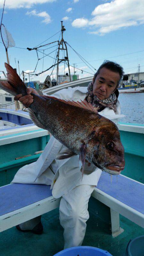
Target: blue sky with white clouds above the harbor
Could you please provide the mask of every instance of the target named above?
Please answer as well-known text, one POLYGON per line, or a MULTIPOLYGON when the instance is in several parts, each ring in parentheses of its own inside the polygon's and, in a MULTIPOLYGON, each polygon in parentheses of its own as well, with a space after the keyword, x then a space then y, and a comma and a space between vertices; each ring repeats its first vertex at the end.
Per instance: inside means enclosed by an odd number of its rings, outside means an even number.
MULTIPOLYGON (((4 0, 0 0, 0 20, 3 6, 4 0)), ((75 63, 80 69, 75 69, 76 75, 79 74, 80 78, 93 76, 104 60, 116 61, 123 66, 126 74, 138 72, 139 64, 140 72, 143 72, 143 14, 144 0, 5 0, 2 23, 15 42, 15 47, 8 48, 10 65, 17 68, 19 73, 19 60, 20 74, 22 70, 33 72, 38 58, 42 58, 38 61, 34 73, 38 74, 51 67, 57 43, 39 48, 41 52, 37 52, 38 57, 35 50, 28 51, 27 47, 34 48, 37 45, 58 41, 60 21, 63 20, 66 28, 64 40, 89 63, 84 63, 67 45, 69 63, 71 66, 75 63), (56 35, 53 36, 54 34, 56 35), (46 48, 49 49, 44 50, 46 48), (81 70, 88 73, 82 74, 81 70)), ((62 52, 60 54, 62 57, 62 52)), ((0 71, 5 71, 6 61, 5 48, 0 43, 0 71)), ((74 74, 73 67, 70 67, 70 71, 74 74)), ((51 72, 52 69, 40 76, 30 75, 30 81, 44 82, 51 72)), ((66 72, 68 68, 65 66, 66 72)), ((60 64, 59 74, 64 74, 63 63, 60 64)), ((3 77, 2 72, 0 76, 3 77)), ((53 78, 55 76, 56 69, 53 70, 53 78)), ((25 78, 29 81, 28 75, 25 78)))

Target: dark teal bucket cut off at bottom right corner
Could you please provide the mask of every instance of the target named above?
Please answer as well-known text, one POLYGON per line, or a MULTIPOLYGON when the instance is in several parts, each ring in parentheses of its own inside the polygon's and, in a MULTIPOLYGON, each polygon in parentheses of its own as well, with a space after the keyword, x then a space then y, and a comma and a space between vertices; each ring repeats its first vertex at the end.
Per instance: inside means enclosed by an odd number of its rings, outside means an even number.
POLYGON ((144 255, 144 236, 138 236, 127 245, 126 256, 143 256, 144 255))

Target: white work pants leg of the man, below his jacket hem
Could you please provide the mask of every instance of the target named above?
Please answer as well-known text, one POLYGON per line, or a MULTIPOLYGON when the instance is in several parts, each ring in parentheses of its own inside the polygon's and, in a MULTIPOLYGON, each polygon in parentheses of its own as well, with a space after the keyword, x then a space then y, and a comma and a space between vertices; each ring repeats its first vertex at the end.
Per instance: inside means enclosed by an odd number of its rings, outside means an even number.
POLYGON ((64 228, 64 249, 80 246, 84 240, 86 221, 89 219, 88 202, 93 185, 80 185, 60 200, 60 224, 64 228))

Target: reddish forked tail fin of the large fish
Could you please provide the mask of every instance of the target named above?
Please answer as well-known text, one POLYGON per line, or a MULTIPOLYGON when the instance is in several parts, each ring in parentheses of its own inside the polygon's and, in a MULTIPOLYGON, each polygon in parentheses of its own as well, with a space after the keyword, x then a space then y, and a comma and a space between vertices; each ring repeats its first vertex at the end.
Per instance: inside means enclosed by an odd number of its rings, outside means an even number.
POLYGON ((26 86, 20 79, 16 71, 7 63, 4 63, 7 71, 7 80, 0 82, 0 88, 12 95, 23 94, 26 95, 26 86))

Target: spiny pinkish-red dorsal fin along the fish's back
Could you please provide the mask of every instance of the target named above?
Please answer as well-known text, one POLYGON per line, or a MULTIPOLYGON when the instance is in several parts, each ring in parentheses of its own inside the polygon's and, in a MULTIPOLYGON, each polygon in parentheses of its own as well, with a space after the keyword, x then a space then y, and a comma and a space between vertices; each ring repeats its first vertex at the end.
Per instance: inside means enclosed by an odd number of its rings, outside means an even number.
POLYGON ((98 113, 97 109, 94 108, 91 103, 88 103, 86 100, 81 100, 81 101, 70 101, 70 100, 62 100, 62 99, 58 99, 58 98, 55 98, 53 96, 44 96, 45 98, 52 98, 52 99, 55 99, 55 100, 59 100, 61 102, 64 102, 68 105, 71 105, 71 106, 75 106, 75 107, 78 107, 78 108, 84 108, 84 109, 88 109, 92 112, 95 112, 96 114, 98 113))

